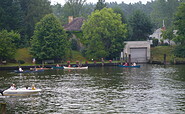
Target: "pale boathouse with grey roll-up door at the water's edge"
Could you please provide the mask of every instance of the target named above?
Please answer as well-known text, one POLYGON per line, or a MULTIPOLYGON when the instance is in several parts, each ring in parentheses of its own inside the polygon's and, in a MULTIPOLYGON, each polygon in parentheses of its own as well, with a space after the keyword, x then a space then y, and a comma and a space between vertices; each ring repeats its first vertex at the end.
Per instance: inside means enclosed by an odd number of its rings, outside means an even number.
MULTIPOLYGON (((149 41, 127 41, 123 50, 124 58, 131 56, 131 62, 147 63, 150 60, 149 41)), ((128 59, 127 59, 128 60, 128 59)))

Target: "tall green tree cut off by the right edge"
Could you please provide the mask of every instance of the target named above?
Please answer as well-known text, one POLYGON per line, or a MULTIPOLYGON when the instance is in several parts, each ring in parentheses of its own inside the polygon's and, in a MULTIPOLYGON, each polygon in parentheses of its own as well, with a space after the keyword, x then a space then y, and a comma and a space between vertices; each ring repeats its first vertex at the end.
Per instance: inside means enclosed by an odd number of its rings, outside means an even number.
POLYGON ((176 42, 185 44, 185 3, 181 3, 175 15, 175 28, 177 30, 176 42))

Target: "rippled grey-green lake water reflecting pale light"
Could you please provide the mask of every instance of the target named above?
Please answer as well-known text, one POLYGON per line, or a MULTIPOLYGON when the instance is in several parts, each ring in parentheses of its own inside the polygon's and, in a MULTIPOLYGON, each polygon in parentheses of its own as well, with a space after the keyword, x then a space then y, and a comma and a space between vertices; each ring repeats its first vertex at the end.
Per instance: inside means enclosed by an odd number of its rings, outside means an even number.
POLYGON ((41 93, 0 96, 9 114, 185 113, 185 65, 89 67, 16 74, 0 71, 0 89, 35 84, 41 93))

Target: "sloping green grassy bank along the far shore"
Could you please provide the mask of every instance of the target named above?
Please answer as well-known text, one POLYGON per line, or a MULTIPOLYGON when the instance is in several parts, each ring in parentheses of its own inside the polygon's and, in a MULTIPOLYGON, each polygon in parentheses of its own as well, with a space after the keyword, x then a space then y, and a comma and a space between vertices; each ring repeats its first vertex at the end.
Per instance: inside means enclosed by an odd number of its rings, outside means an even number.
MULTIPOLYGON (((174 57, 174 55, 172 53, 173 49, 174 49, 173 46, 152 47, 151 48, 151 61, 157 61, 157 62, 163 63, 164 54, 166 54, 167 55, 166 56, 167 63, 173 63, 174 61, 185 63, 185 58, 174 57)), ((32 63, 32 58, 33 57, 32 57, 32 55, 29 54, 28 48, 18 49, 17 53, 15 55, 16 61, 24 61, 24 64, 21 64, 21 66, 34 66, 35 64, 32 63)), ((88 60, 85 57, 83 57, 80 52, 71 51, 71 54, 67 58, 66 61, 71 61, 71 64, 76 64, 76 61, 79 61, 82 64, 85 64, 85 62, 88 60)), ((66 61, 64 61, 63 64, 66 64, 66 61)), ((119 62, 119 61, 113 61, 113 63, 117 63, 117 62, 119 62)), ((91 64, 91 63, 93 63, 93 61, 88 61, 88 63, 91 64)), ((97 63, 101 63, 101 62, 97 62, 97 63)), ((105 63, 109 63, 109 61, 105 61, 105 63)), ((18 66, 18 63, 7 63, 7 64, 0 65, 0 66, 1 67, 18 66)))

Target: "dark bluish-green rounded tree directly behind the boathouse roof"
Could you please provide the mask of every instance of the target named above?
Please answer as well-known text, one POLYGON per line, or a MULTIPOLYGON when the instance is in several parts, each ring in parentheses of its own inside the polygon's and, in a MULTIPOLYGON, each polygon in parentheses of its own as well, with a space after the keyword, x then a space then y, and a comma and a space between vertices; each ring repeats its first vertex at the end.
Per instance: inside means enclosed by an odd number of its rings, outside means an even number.
POLYGON ((137 10, 129 19, 130 40, 147 40, 152 33, 152 22, 143 12, 137 10))

